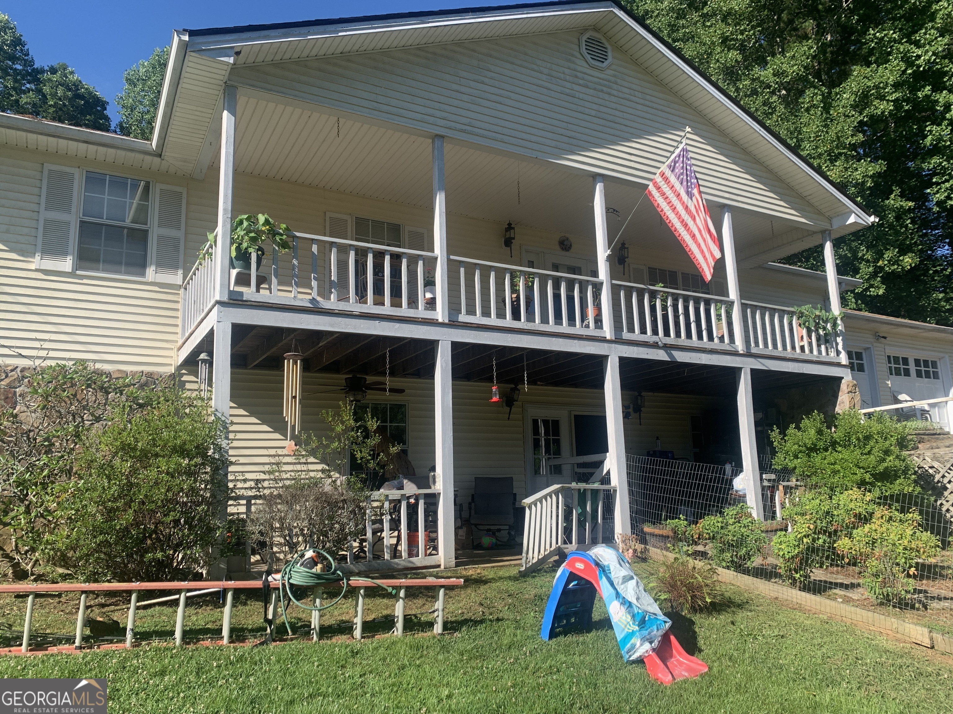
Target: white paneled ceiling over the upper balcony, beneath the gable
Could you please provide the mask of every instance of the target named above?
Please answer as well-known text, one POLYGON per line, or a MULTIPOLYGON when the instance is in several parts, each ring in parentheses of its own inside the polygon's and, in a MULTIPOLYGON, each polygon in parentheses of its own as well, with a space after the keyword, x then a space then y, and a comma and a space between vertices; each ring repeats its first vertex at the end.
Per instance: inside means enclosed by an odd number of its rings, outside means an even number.
MULTIPOLYGON (((246 95, 239 97, 237 117, 235 169, 241 173, 419 208, 432 206, 428 138, 246 95)), ((570 236, 594 236, 589 175, 450 142, 445 162, 451 213, 570 236)), ((704 176, 700 179, 703 183, 704 176)), ((643 194, 643 187, 606 183, 607 206, 621 216, 618 220, 610 216, 612 238, 643 194)), ((710 205, 709 210, 720 228, 719 207, 710 205)), ((797 241, 806 246, 813 241, 804 228, 740 209, 733 212, 733 220, 742 262, 751 253, 758 263, 765 241, 772 246, 797 241)), ((621 240, 630 246, 681 250, 647 199, 641 201, 621 240)))

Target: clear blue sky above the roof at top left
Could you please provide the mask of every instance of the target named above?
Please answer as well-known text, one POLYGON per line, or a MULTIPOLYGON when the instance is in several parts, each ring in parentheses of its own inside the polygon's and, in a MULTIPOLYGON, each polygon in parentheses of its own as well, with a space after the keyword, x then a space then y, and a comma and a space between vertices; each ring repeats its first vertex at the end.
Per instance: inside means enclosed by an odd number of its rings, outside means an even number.
POLYGON ((165 0, 141 5, 91 0, 8 0, 0 10, 16 23, 38 64, 66 62, 83 81, 98 89, 109 100, 115 123, 113 99, 122 90, 123 71, 148 57, 155 48, 168 45, 175 29, 506 4, 506 0, 165 0))

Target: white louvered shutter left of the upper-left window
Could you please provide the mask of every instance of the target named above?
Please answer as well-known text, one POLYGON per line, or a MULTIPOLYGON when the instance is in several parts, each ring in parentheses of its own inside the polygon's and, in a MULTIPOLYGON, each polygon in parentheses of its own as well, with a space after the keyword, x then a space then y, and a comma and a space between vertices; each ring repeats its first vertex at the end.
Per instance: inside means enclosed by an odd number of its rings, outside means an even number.
POLYGON ((36 234, 37 268, 72 270, 78 199, 79 169, 44 164, 36 234))

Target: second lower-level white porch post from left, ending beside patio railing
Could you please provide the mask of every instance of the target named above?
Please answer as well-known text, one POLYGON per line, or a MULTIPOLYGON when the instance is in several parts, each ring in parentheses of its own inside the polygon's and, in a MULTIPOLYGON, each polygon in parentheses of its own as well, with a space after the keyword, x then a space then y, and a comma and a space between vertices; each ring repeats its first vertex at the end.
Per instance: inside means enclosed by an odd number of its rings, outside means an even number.
POLYGON ((434 370, 434 441, 436 478, 440 485, 440 510, 437 513, 437 545, 440 567, 453 567, 454 553, 454 383, 449 340, 436 344, 434 370))

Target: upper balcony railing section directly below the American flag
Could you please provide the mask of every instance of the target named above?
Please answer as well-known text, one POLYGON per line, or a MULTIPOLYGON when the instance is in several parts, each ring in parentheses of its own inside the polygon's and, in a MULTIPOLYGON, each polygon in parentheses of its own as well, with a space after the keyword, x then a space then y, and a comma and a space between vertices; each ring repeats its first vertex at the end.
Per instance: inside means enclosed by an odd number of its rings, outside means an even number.
POLYGON ((622 336, 648 335, 689 342, 738 345, 731 320, 735 301, 673 288, 613 281, 622 336))

